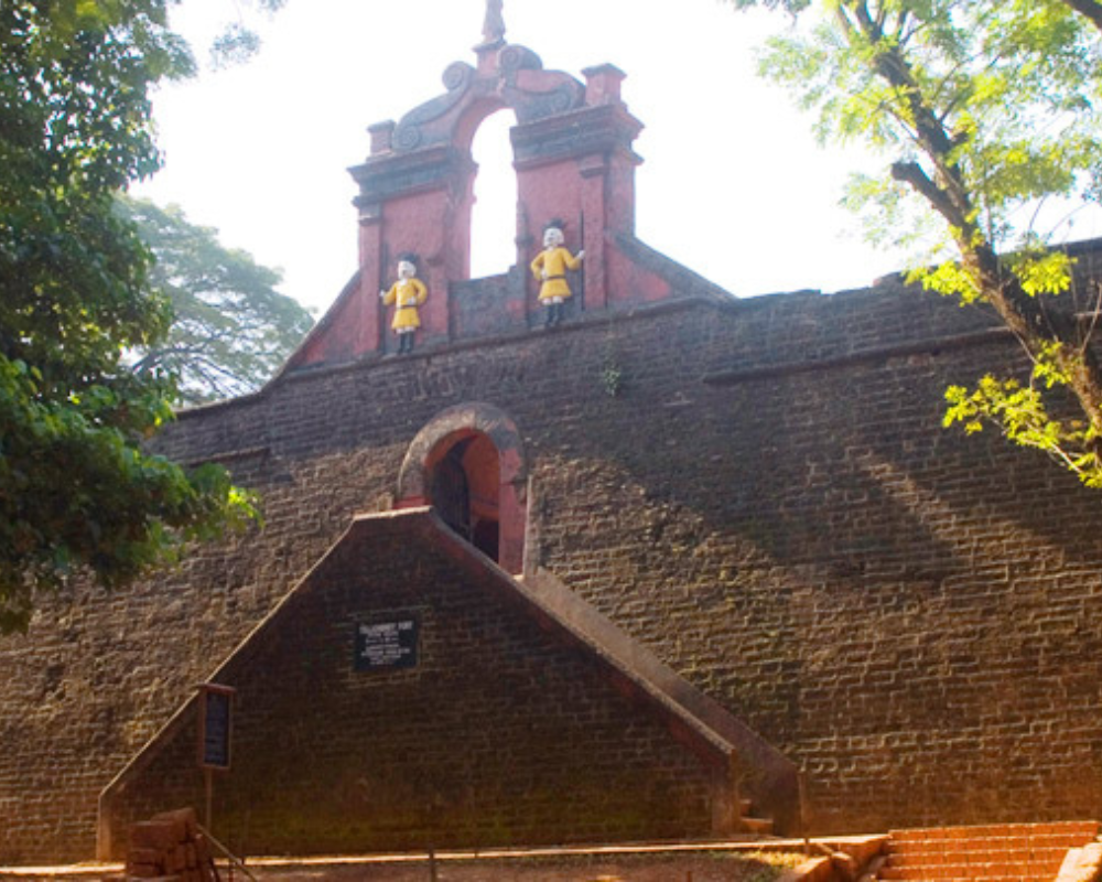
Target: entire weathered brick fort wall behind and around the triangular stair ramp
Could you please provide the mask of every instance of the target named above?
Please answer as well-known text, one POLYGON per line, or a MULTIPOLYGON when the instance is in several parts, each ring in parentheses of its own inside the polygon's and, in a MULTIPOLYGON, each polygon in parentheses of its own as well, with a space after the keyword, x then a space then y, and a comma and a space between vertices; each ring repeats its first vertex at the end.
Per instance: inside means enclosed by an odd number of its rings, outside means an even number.
POLYGON ((166 450, 245 451, 266 526, 0 643, 0 858, 87 857, 98 790, 473 400, 523 434, 531 559, 806 764, 820 829, 1102 813, 1098 496, 939 426, 1015 357, 988 326, 895 289, 668 305, 185 418, 166 450))

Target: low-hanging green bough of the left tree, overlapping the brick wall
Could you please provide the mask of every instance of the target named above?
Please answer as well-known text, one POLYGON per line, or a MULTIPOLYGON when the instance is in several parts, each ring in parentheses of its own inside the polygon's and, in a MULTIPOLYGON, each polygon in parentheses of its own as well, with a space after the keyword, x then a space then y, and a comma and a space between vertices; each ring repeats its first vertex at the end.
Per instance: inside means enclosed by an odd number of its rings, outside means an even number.
POLYGON ((171 418, 168 391, 102 383, 57 399, 36 368, 0 359, 0 632, 80 569, 114 587, 252 514, 224 470, 185 473, 141 450, 171 418))

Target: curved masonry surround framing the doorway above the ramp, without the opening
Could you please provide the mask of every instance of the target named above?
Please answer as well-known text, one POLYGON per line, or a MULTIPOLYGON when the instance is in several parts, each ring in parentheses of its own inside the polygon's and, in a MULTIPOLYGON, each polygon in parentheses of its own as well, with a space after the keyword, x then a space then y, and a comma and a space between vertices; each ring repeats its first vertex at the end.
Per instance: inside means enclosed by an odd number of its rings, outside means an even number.
POLYGON ((431 481, 449 453, 485 439, 497 454, 497 562, 507 572, 523 569, 528 467, 516 423, 493 405, 473 402, 441 411, 417 433, 398 475, 396 508, 432 504, 431 481))

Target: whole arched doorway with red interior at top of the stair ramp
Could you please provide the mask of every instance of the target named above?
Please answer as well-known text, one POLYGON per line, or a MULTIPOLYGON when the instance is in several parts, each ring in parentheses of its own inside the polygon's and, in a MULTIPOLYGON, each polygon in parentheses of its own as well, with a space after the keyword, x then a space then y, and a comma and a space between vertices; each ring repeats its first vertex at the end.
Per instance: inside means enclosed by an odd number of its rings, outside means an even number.
POLYGON ((493 405, 436 415, 410 444, 396 508, 431 505, 504 570, 523 569, 527 467, 516 423, 493 405))

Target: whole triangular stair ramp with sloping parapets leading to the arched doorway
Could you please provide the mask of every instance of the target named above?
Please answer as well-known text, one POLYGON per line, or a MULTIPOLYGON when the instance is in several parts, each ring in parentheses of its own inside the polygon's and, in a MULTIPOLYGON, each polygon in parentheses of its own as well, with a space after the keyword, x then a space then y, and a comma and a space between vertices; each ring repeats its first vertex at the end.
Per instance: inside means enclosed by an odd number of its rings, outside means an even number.
MULTIPOLYGON (((795 822, 787 760, 426 508, 354 519, 210 680, 237 690, 214 832, 249 853, 702 837, 737 830, 746 796, 795 822)), ((204 804, 197 713, 104 790, 100 858, 131 821, 204 804)))

